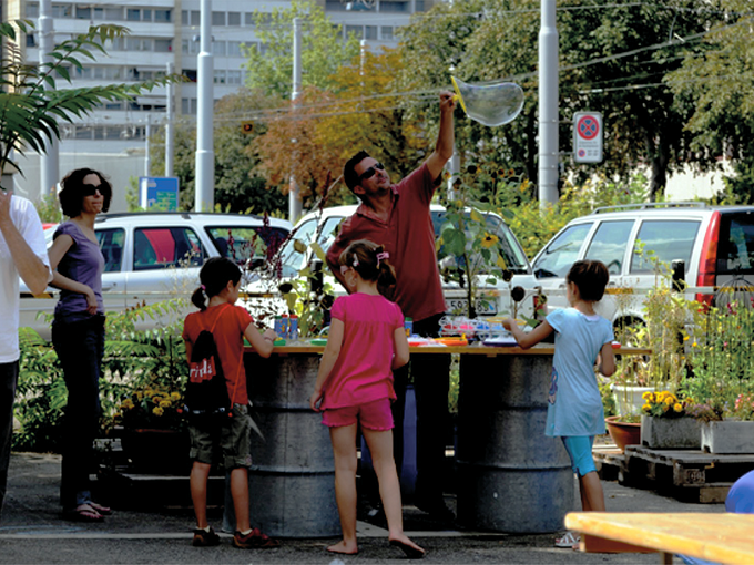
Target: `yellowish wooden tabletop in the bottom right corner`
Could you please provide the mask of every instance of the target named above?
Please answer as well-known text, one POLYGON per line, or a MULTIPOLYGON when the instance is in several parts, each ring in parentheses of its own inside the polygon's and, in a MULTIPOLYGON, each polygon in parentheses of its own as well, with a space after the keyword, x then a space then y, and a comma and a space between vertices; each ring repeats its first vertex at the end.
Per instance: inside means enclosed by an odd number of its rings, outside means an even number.
POLYGON ((658 552, 661 563, 683 554, 716 563, 754 563, 754 515, 572 512, 566 527, 585 552, 658 552))

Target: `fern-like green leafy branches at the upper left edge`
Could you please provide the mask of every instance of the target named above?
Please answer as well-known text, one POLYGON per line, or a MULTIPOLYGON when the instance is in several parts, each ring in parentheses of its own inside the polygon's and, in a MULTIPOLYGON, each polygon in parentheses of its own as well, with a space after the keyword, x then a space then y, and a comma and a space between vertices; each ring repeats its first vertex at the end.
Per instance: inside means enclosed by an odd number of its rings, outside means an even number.
POLYGON ((28 33, 33 24, 27 20, 0 23, 0 41, 8 40, 9 52, 0 64, 0 172, 8 165, 20 171, 11 160, 31 147, 43 153, 47 140, 60 138, 59 122, 72 123, 100 104, 113 100, 132 100, 136 94, 164 85, 179 76, 165 76, 136 84, 105 84, 81 89, 59 89, 57 76, 71 83, 71 70, 83 69, 82 60, 95 61, 95 53, 106 54, 102 47, 130 32, 121 25, 103 24, 89 28, 55 45, 52 61, 40 65, 21 61, 16 45, 17 30, 28 33))

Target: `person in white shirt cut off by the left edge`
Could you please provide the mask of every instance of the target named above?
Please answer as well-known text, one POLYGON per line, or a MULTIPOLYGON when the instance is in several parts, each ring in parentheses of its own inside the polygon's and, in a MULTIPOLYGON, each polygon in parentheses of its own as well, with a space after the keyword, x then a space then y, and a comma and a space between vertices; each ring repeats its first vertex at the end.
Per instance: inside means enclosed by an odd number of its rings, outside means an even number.
POLYGON ((33 204, 0 189, 0 512, 6 497, 19 377, 19 276, 34 295, 52 278, 33 204))

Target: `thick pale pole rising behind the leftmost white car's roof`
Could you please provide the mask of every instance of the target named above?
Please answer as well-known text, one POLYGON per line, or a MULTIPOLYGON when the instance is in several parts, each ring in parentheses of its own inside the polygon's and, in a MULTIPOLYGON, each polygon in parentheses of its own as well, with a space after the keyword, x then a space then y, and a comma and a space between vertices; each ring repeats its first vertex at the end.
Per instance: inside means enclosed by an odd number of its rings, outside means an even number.
POLYGON ((196 116, 196 194, 195 212, 212 212, 215 207, 215 152, 213 144, 214 60, 212 58, 211 0, 200 4, 200 53, 197 63, 196 116))

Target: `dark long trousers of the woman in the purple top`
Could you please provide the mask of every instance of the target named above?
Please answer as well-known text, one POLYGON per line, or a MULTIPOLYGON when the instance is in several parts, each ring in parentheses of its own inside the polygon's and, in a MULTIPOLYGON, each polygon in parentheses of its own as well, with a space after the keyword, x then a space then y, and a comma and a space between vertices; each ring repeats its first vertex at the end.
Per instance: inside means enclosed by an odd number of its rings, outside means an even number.
POLYGON ((94 438, 100 424, 100 368, 104 355, 104 316, 52 323, 52 345, 63 368, 68 405, 63 417, 60 503, 75 508, 91 500, 94 438))

